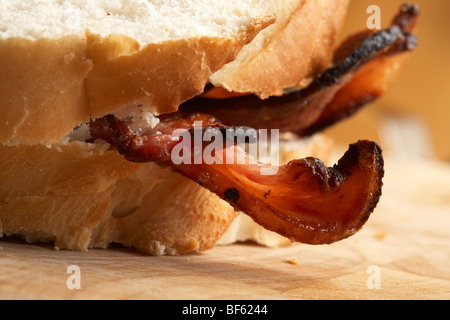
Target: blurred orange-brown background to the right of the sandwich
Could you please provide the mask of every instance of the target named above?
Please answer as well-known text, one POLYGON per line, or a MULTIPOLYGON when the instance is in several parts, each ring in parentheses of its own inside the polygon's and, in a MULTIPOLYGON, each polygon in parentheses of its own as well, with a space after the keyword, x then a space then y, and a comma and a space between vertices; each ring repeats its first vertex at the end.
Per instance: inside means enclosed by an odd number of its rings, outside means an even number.
MULTIPOLYGON (((347 146, 359 139, 379 142, 386 153, 450 162, 450 1, 416 0, 420 5, 419 46, 388 93, 326 133, 347 146)), ((381 8, 382 27, 398 12, 400 0, 352 0, 342 37, 362 30, 381 8)))

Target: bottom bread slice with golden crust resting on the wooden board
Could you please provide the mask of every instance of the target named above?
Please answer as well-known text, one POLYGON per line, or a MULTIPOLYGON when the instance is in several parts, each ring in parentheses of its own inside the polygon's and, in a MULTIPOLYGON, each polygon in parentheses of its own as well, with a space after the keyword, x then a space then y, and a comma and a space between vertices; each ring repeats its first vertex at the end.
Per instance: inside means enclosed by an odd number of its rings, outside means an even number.
MULTIPOLYGON (((329 139, 280 144, 280 161, 326 158, 329 139)), ((183 254, 218 243, 285 243, 197 183, 154 163, 131 163, 107 144, 0 145, 0 236, 85 251, 111 243, 183 254), (227 231, 226 235, 225 232, 227 231)))

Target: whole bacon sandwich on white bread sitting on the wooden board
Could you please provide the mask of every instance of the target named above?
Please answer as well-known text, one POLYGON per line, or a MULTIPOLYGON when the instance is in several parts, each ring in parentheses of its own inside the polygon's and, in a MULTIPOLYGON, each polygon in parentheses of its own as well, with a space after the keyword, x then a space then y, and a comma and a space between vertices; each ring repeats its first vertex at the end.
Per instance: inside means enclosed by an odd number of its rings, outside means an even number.
POLYGON ((385 93, 417 44, 418 8, 337 43, 348 5, 2 2, 0 235, 166 255, 355 234, 382 194, 382 150, 355 133, 329 167, 322 131, 385 93), (229 143, 237 130, 278 132, 280 162, 229 143), (176 131, 214 132, 222 161, 174 161, 194 144, 176 131))

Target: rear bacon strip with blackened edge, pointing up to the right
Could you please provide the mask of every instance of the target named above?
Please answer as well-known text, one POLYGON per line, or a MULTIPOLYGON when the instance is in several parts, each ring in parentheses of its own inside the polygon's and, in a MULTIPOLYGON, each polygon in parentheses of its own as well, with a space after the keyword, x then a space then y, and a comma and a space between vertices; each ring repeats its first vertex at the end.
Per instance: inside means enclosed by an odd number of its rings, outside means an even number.
POLYGON ((354 114, 385 92, 393 66, 404 58, 399 54, 416 46, 411 32, 417 17, 417 6, 404 5, 390 28, 349 37, 336 51, 335 66, 302 90, 265 100, 254 95, 200 97, 180 109, 212 114, 226 125, 310 135, 354 114))

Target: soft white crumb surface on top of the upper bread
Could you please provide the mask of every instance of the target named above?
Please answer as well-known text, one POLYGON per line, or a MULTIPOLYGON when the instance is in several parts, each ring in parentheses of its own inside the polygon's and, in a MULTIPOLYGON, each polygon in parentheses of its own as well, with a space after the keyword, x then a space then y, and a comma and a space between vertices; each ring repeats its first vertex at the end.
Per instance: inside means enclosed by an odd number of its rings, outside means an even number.
POLYGON ((0 2, 0 38, 59 38, 89 30, 158 43, 229 36, 260 13, 253 0, 9 0, 0 2))

